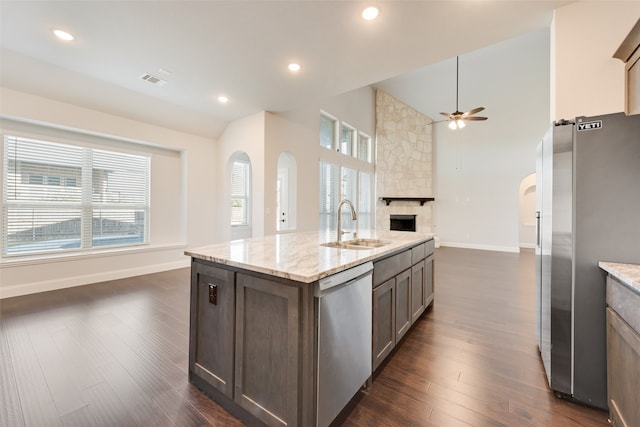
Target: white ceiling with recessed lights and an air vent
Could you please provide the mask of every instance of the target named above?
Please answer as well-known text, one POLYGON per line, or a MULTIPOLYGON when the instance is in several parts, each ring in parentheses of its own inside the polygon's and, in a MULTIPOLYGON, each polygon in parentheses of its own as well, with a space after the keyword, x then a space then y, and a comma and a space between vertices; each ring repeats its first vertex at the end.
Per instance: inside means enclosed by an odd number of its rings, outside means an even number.
MULTIPOLYGON (((0 83, 215 138, 236 118, 401 82, 397 76, 431 64, 455 84, 451 58, 548 27, 553 9, 567 3, 1 0, 0 83), (380 16, 362 20, 372 3, 380 16), (76 40, 55 39, 54 27, 76 40), (296 75, 286 68, 291 61, 303 67, 296 75), (167 84, 153 86, 144 73, 167 84), (227 105, 216 101, 222 93, 227 105)), ((460 67, 462 74, 462 59, 460 67)), ((389 93, 427 90, 406 81, 411 89, 389 93)), ((453 111, 454 101, 432 108, 453 111)))

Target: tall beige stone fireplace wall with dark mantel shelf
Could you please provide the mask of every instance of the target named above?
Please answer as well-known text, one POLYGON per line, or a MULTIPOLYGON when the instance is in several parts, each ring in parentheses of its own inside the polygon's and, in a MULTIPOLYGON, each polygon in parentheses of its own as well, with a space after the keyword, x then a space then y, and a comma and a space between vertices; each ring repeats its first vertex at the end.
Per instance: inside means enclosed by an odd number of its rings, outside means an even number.
POLYGON ((376 229, 389 230, 390 215, 417 215, 418 232, 432 232, 433 202, 380 197, 433 197, 432 120, 381 90, 376 91, 376 229))

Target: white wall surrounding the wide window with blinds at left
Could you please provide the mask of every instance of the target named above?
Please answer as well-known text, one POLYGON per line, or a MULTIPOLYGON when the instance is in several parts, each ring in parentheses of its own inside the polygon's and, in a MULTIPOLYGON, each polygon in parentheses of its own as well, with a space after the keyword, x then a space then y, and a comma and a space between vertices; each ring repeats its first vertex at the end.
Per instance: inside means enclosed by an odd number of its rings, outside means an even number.
POLYGON ((156 148, 137 143, 132 147, 151 151, 152 173, 156 178, 165 174, 152 184, 151 217, 156 225, 152 226, 149 246, 45 260, 3 258, 0 297, 187 266, 185 247, 214 240, 215 141, 6 88, 1 89, 0 95, 0 114, 4 118, 51 124, 70 134, 80 131, 78 135, 151 144, 156 148), (167 183, 165 178, 171 176, 178 177, 179 182, 167 183))

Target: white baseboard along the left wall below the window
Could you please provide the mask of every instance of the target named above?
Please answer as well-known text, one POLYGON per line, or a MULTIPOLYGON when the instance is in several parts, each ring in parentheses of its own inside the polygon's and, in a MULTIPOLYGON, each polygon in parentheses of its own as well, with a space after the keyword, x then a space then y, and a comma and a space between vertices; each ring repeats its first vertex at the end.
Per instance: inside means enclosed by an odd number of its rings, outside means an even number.
POLYGON ((37 292, 72 288, 74 286, 89 285, 92 283, 106 282, 109 280, 124 279, 126 277, 158 273, 167 270, 175 270, 177 268, 189 267, 190 263, 191 258, 185 257, 184 260, 167 262, 163 264, 145 265, 142 267, 127 268, 122 270, 109 270, 102 273, 65 277, 63 279, 56 280, 43 280, 40 282, 28 283, 26 285, 0 287, 0 299, 35 294, 37 292))

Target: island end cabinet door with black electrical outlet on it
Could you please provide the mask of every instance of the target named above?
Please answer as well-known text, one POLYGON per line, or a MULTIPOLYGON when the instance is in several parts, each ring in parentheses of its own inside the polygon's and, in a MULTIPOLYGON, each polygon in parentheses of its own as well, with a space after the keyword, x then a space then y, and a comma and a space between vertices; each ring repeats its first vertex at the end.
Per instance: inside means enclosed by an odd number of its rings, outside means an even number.
POLYGON ((191 268, 189 370, 233 396, 234 274, 194 262, 191 268))

